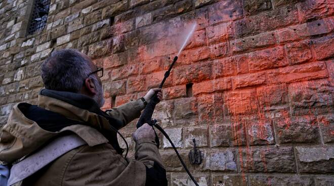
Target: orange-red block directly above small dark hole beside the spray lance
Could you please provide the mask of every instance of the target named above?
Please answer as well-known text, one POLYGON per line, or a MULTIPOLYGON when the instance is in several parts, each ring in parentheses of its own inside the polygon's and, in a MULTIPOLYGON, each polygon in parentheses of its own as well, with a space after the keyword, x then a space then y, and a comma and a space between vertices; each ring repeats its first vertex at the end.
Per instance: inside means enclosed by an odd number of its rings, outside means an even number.
POLYGON ((212 64, 209 62, 182 66, 174 69, 173 81, 175 84, 198 82, 210 79, 212 76, 212 64))

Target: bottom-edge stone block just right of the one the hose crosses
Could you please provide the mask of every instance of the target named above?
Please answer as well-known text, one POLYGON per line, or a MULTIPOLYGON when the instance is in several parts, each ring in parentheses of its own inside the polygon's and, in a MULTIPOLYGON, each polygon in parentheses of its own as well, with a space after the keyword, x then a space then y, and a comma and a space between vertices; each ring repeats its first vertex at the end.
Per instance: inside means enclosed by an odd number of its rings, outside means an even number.
POLYGON ((248 178, 242 175, 213 174, 212 185, 220 186, 247 186, 248 178))

